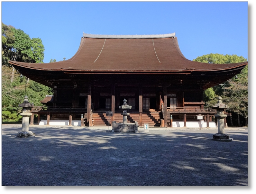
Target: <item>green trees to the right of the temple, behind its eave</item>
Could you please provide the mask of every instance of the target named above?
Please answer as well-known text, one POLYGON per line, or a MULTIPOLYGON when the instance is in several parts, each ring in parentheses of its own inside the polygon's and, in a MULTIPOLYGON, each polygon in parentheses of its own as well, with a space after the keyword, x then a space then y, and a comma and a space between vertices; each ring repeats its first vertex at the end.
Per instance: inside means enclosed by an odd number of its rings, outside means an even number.
MULTIPOLYGON (((207 54, 197 57, 193 61, 211 63, 211 64, 229 64, 247 61, 243 56, 237 55, 221 55, 221 54, 207 54)), ((228 105, 229 112, 235 112, 243 116, 248 122, 248 67, 246 66, 240 74, 225 81, 224 87, 221 85, 204 90, 204 101, 206 106, 210 107, 216 104, 216 97, 225 95, 224 103, 228 105), (213 94, 214 91, 214 94, 213 94)))

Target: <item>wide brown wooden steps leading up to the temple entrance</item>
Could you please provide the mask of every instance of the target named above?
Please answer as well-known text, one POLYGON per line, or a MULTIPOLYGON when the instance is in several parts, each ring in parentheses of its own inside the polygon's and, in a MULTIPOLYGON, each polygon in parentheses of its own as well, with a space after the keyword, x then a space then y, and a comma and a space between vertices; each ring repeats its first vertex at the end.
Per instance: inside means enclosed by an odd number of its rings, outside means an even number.
MULTIPOLYGON (((142 114, 143 126, 144 123, 148 123, 150 127, 159 127, 161 123, 159 120, 159 112, 160 111, 144 112, 142 114)), ((94 112, 92 115, 92 119, 94 120, 94 126, 108 126, 108 117, 106 116, 106 113, 94 112)), ((110 126, 112 123, 111 119, 112 117, 109 118, 110 126)), ((121 115, 121 113, 115 113, 115 121, 116 123, 123 122, 123 116, 121 115)), ((127 123, 135 123, 135 121, 139 123, 139 113, 130 113, 130 115, 127 116, 127 123)))

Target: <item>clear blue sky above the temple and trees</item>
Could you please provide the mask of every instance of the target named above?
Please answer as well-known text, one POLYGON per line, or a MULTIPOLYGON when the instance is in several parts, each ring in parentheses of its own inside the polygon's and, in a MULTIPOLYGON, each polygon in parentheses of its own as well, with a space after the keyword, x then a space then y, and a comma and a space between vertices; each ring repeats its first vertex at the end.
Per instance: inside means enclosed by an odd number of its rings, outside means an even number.
POLYGON ((71 58, 85 33, 176 32, 190 60, 210 53, 248 59, 247 2, 2 2, 2 22, 41 38, 44 62, 71 58))

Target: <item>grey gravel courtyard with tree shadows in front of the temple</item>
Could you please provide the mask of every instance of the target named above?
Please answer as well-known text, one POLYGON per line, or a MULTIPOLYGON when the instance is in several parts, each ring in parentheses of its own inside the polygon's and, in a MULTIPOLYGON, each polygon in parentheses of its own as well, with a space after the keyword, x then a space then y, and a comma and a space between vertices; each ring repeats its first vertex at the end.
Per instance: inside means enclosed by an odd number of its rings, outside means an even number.
POLYGON ((212 141, 216 128, 29 130, 2 125, 2 185, 248 185, 247 128, 226 129, 232 142, 212 141))

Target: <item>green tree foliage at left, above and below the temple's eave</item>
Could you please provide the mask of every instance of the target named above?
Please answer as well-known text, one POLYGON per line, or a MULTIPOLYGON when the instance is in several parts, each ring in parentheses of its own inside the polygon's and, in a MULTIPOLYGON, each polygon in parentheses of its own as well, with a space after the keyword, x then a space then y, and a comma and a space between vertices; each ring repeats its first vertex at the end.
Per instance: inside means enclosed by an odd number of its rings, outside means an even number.
POLYGON ((40 38, 30 39, 24 31, 2 23, 2 119, 21 118, 18 105, 24 101, 25 88, 29 102, 35 106, 43 106, 40 100, 53 94, 47 86, 32 80, 28 83, 28 78, 8 63, 8 60, 43 63, 44 50, 40 38))

